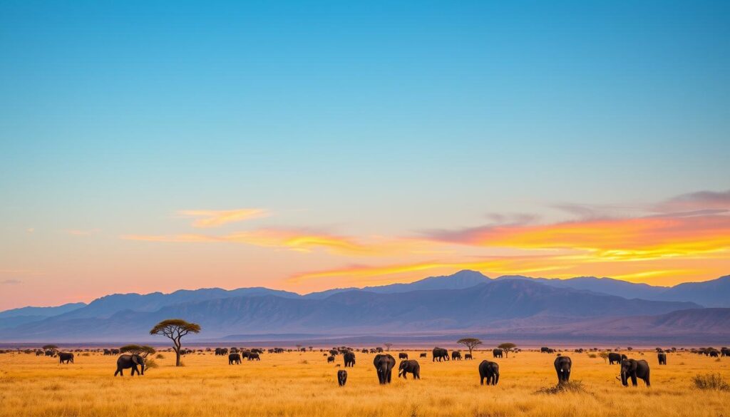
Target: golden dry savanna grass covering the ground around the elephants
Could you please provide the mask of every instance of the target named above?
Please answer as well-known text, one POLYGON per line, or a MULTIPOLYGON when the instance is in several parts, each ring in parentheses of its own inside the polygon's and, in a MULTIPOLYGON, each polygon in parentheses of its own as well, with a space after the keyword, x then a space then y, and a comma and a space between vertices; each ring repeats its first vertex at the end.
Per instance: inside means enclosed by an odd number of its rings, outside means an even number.
MULTIPOLYGON (((398 351, 391 351, 397 358, 398 351)), ((576 391, 546 393, 556 385, 555 355, 523 351, 492 359, 475 351, 473 361, 431 362, 407 351, 421 364, 421 380, 397 377, 380 386, 374 354, 356 353, 347 385, 337 386, 337 370, 318 351, 264 353, 261 361, 228 365, 212 353, 192 354, 174 367, 162 352, 158 367, 142 377, 114 377, 116 356, 76 353, 75 364, 25 353, 0 355, 0 416, 730 416, 730 392, 694 387, 694 375, 720 374, 730 380, 730 359, 669 353, 659 367, 647 359, 652 386, 624 388, 618 365, 589 353, 564 353, 573 360, 576 391), (480 386, 477 366, 499 362, 498 386, 480 386)), ((396 367, 398 360, 396 359, 396 367)), ((335 364, 342 364, 342 356, 335 364)))

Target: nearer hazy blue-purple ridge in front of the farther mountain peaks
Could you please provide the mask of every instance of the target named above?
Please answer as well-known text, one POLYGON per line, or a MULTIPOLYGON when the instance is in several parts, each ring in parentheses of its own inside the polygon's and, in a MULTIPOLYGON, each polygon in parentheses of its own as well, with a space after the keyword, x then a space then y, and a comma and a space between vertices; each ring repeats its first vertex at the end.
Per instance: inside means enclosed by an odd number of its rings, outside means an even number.
POLYGON ((376 294, 353 290, 325 299, 304 297, 226 297, 185 302, 155 311, 123 310, 104 317, 59 315, 16 329, 6 340, 148 339, 147 331, 164 318, 201 324, 206 337, 241 333, 353 334, 485 329, 496 321, 546 318, 658 315, 699 307, 687 302, 654 302, 556 288, 529 280, 499 280, 461 289, 376 294))

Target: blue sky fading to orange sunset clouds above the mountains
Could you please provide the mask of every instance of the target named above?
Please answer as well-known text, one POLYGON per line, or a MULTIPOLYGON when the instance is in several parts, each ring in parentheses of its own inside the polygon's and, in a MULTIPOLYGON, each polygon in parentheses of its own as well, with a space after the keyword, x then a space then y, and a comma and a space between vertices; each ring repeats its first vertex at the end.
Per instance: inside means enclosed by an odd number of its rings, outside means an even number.
POLYGON ((726 1, 0 1, 0 309, 730 274, 726 1))

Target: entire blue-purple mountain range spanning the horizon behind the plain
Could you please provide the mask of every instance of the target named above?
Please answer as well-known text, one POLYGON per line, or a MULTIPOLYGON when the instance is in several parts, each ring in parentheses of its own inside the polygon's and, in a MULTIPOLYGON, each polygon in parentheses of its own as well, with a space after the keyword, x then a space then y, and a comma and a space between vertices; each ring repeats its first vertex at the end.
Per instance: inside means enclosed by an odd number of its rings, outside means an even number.
POLYGON ((200 324, 199 337, 206 340, 500 332, 526 339, 671 336, 694 342, 730 334, 729 296, 730 276, 656 287, 595 277, 491 279, 464 270, 414 283, 305 295, 203 288, 23 307, 0 312, 0 340, 152 340, 147 332, 158 321, 184 318, 200 324))

